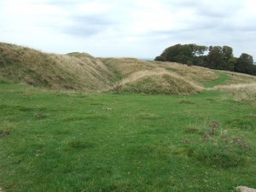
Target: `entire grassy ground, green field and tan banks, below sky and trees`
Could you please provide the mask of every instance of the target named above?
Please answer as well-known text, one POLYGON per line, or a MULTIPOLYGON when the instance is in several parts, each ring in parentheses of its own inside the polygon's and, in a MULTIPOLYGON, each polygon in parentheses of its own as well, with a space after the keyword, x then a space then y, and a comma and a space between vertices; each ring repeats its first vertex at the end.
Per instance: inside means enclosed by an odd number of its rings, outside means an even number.
POLYGON ((256 189, 256 77, 0 45, 0 192, 256 189))

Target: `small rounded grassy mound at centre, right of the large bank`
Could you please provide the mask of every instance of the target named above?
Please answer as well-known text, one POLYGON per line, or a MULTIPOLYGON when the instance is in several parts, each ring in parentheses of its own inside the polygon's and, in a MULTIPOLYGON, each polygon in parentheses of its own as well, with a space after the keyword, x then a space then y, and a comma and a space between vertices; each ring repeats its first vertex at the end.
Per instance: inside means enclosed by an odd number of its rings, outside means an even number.
POLYGON ((190 95, 201 88, 172 73, 136 73, 136 79, 124 81, 121 91, 145 94, 190 95))

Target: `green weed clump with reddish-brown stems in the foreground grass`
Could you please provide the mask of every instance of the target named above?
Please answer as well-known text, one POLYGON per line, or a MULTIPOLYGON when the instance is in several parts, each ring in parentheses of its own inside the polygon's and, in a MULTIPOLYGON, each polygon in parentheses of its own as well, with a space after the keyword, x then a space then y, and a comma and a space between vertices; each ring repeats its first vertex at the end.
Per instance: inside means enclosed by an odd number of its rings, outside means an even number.
POLYGON ((210 129, 198 140, 192 157, 207 166, 229 168, 245 165, 253 148, 247 145, 245 137, 230 137, 227 131, 220 131, 220 127, 218 121, 212 121, 210 129))

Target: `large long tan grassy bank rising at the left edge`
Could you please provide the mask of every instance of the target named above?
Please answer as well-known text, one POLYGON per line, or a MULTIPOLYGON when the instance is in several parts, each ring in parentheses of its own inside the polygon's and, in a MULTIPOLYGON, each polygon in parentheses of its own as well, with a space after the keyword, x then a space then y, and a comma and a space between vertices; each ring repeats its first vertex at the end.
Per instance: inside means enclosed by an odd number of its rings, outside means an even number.
POLYGON ((0 79, 55 90, 108 90, 112 73, 88 54, 45 54, 0 44, 0 79))

